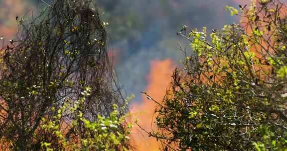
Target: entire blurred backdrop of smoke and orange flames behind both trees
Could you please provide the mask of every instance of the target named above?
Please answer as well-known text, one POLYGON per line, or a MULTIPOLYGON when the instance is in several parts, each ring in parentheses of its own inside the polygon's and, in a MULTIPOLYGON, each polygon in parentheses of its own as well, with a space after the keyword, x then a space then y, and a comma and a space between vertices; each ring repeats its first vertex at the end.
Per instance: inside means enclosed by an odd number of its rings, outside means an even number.
MULTIPOLYGON (((37 14, 42 0, 0 0, 0 36, 5 42, 15 38, 16 16, 37 14)), ((156 104, 142 96, 147 91, 160 100, 170 82, 172 71, 180 66, 184 55, 179 43, 190 51, 187 40, 177 36, 182 25, 188 28, 221 28, 239 22, 225 6, 238 8, 250 0, 95 0, 101 17, 108 22, 108 50, 123 86, 125 96, 135 94, 131 111, 139 114, 139 124, 147 131, 154 129, 152 119, 156 104)), ((46 0, 46 2, 50 2, 46 0)), ((156 151, 156 140, 140 128, 132 132, 139 151, 156 151)))

